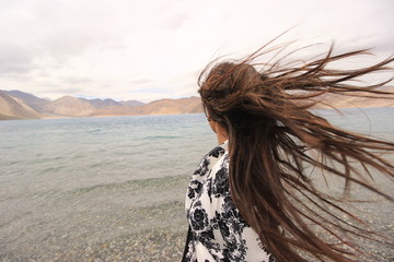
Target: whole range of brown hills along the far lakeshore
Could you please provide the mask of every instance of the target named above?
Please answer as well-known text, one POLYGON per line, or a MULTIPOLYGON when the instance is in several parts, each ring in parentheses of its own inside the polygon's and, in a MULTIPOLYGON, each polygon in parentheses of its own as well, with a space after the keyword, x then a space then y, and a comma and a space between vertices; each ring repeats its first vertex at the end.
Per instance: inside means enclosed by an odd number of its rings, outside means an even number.
MULTIPOLYGON (((385 86, 382 90, 394 93, 394 86, 385 86)), ((323 95, 318 99, 322 103, 315 108, 394 107, 394 99, 337 95, 323 95)), ((138 100, 116 102, 111 98, 85 99, 72 96, 49 100, 21 91, 0 91, 0 120, 193 112, 202 112, 199 97, 166 98, 143 104, 138 100)))

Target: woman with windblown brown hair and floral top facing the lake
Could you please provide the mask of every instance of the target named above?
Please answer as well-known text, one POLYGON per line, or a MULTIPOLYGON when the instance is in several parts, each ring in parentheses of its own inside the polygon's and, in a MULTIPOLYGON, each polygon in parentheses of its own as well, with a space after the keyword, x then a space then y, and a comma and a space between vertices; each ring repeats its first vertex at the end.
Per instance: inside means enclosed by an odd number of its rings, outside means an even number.
POLYGON ((394 98, 378 90, 389 81, 355 85, 360 76, 387 70, 393 58, 336 70, 333 62, 366 51, 332 51, 299 63, 283 56, 290 64, 283 66, 282 59, 253 63, 267 55, 259 50, 200 76, 199 94, 220 145, 202 158, 188 187, 184 261, 348 262, 357 261, 349 236, 378 237, 355 224, 360 221, 340 207, 339 198, 320 191, 306 167, 343 178, 346 190, 354 182, 393 201, 364 177, 370 168, 394 177, 381 154, 393 152, 394 143, 335 128, 310 109, 327 95, 394 98), (341 219, 344 214, 354 221, 341 219))

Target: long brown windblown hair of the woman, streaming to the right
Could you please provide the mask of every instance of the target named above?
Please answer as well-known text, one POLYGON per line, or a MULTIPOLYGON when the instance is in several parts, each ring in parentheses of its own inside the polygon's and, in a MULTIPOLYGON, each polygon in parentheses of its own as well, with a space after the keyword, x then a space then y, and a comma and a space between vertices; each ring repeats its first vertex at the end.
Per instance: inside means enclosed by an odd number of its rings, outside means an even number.
POLYGON ((345 189, 352 182, 393 201, 364 178, 371 169, 394 177, 394 166, 382 156, 394 151, 394 143, 336 128, 311 109, 324 104, 323 97, 329 94, 394 99, 393 93, 379 88, 391 80, 354 84, 366 74, 390 71, 394 59, 335 70, 329 68, 334 61, 368 50, 333 55, 332 46, 312 61, 282 66, 283 58, 288 59, 282 56, 268 63, 255 62, 277 50, 264 48, 241 61, 207 67, 199 78, 206 114, 229 134, 233 202, 278 262, 355 261, 358 250, 344 233, 370 239, 373 235, 341 207, 340 196, 318 190, 305 167, 343 178, 345 189), (321 237, 316 228, 329 237, 321 237))

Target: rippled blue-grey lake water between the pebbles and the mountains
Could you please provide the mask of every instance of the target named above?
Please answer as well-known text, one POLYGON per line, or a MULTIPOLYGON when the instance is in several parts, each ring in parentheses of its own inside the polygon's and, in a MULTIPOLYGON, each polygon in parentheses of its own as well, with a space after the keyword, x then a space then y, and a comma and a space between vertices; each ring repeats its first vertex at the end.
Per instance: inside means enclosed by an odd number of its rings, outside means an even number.
MULTIPOLYGON (((394 108, 343 112, 320 111, 394 140, 394 108)), ((201 114, 0 121, 0 261, 66 261, 56 253, 183 230, 188 178, 215 145, 201 114)))

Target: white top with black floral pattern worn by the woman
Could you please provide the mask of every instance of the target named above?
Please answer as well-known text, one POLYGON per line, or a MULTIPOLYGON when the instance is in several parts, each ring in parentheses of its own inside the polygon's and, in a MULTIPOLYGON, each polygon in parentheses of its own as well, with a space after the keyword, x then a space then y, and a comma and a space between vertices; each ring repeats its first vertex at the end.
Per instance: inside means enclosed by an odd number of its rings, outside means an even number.
POLYGON ((228 142, 202 158, 185 205, 190 225, 185 261, 275 261, 231 200, 228 142))

